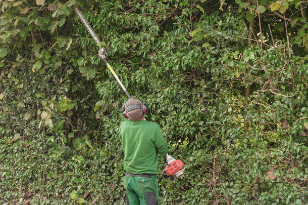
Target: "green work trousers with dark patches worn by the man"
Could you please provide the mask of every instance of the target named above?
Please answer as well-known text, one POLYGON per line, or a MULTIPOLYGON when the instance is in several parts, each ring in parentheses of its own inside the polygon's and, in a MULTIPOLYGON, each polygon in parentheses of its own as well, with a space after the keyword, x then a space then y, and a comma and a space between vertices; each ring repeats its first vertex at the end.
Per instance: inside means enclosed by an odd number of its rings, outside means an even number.
POLYGON ((157 176, 133 177, 126 175, 124 178, 126 188, 126 205, 157 205, 159 200, 157 176))

